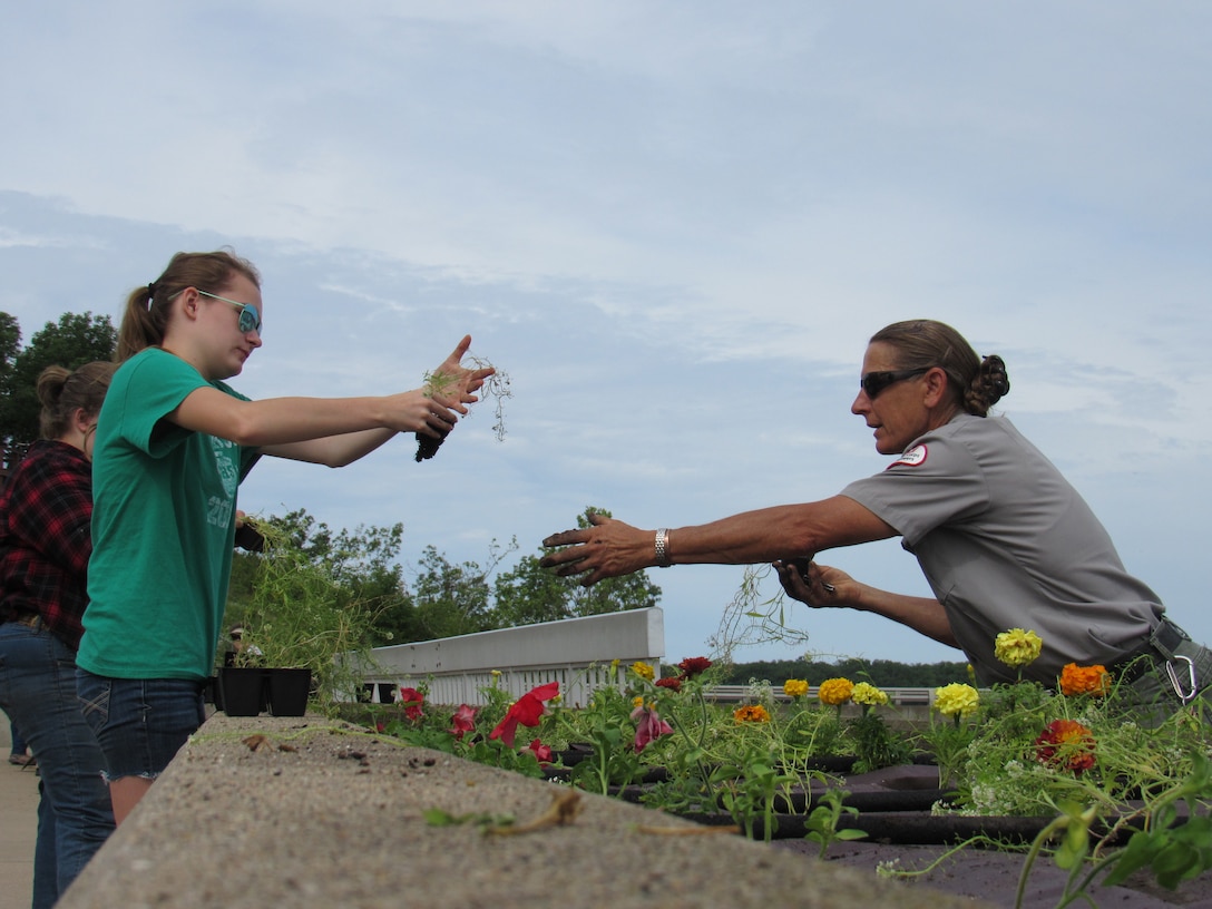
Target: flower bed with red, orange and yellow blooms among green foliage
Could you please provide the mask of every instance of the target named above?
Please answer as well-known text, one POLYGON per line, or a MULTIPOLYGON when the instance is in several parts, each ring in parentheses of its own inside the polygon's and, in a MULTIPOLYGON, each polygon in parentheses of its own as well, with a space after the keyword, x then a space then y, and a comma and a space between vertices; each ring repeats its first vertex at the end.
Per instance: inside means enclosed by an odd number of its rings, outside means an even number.
MULTIPOLYGON (((1027 665, 1039 638, 1011 629, 996 652, 1027 665)), ((490 687, 480 708, 435 708, 421 685, 376 724, 408 744, 750 837, 800 837, 822 856, 864 836, 1023 848, 1024 874, 1051 853, 1074 893, 1096 874, 1115 881, 1150 868, 1173 886, 1212 868, 1201 715, 1183 709, 1147 725, 1103 667, 1067 667, 1054 690, 954 682, 936 691, 930 720, 919 724, 899 721, 877 687, 848 679, 785 680, 789 703, 755 680, 745 703, 726 708, 705 699, 713 673, 701 657, 682 661, 676 676, 657 679, 638 663, 628 678, 625 691, 600 688, 576 710, 560 704, 555 682, 516 702, 490 687), (859 705, 857 715, 844 718, 847 704, 859 705), (532 732, 519 741, 521 727, 532 732), (827 759, 848 768, 828 768, 827 759), (868 785, 886 768, 899 770, 868 785)))

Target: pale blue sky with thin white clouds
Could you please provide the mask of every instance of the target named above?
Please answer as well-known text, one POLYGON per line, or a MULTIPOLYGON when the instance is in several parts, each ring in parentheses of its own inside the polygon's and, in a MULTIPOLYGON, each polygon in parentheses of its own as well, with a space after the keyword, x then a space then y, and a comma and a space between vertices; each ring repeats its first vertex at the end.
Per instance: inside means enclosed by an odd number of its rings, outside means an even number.
MULTIPOLYGON (((1212 641, 1210 44, 1194 0, 11 5, 0 310, 27 343, 116 325, 175 252, 230 246, 263 278, 231 379, 258 399, 416 388, 470 333, 510 378, 503 441, 480 410, 422 464, 400 438, 241 486, 402 522, 406 576, 516 539, 508 570, 587 505, 676 528, 833 496, 887 463, 850 413, 867 338, 939 319, 1212 641)), ((928 594, 897 541, 818 560, 928 594)), ((708 654, 744 570, 650 577, 667 661, 708 654)), ((961 658, 781 614, 733 658, 961 658)))

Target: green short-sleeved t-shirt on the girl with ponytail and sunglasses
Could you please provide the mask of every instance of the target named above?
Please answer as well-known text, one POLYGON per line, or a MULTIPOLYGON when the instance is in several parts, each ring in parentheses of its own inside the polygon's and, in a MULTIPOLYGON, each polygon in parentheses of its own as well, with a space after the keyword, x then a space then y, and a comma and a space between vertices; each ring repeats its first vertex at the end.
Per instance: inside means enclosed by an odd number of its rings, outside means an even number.
POLYGON ((165 419, 204 385, 247 400, 159 348, 122 364, 105 395, 76 657, 95 675, 211 675, 231 572, 236 487, 258 450, 165 419))

